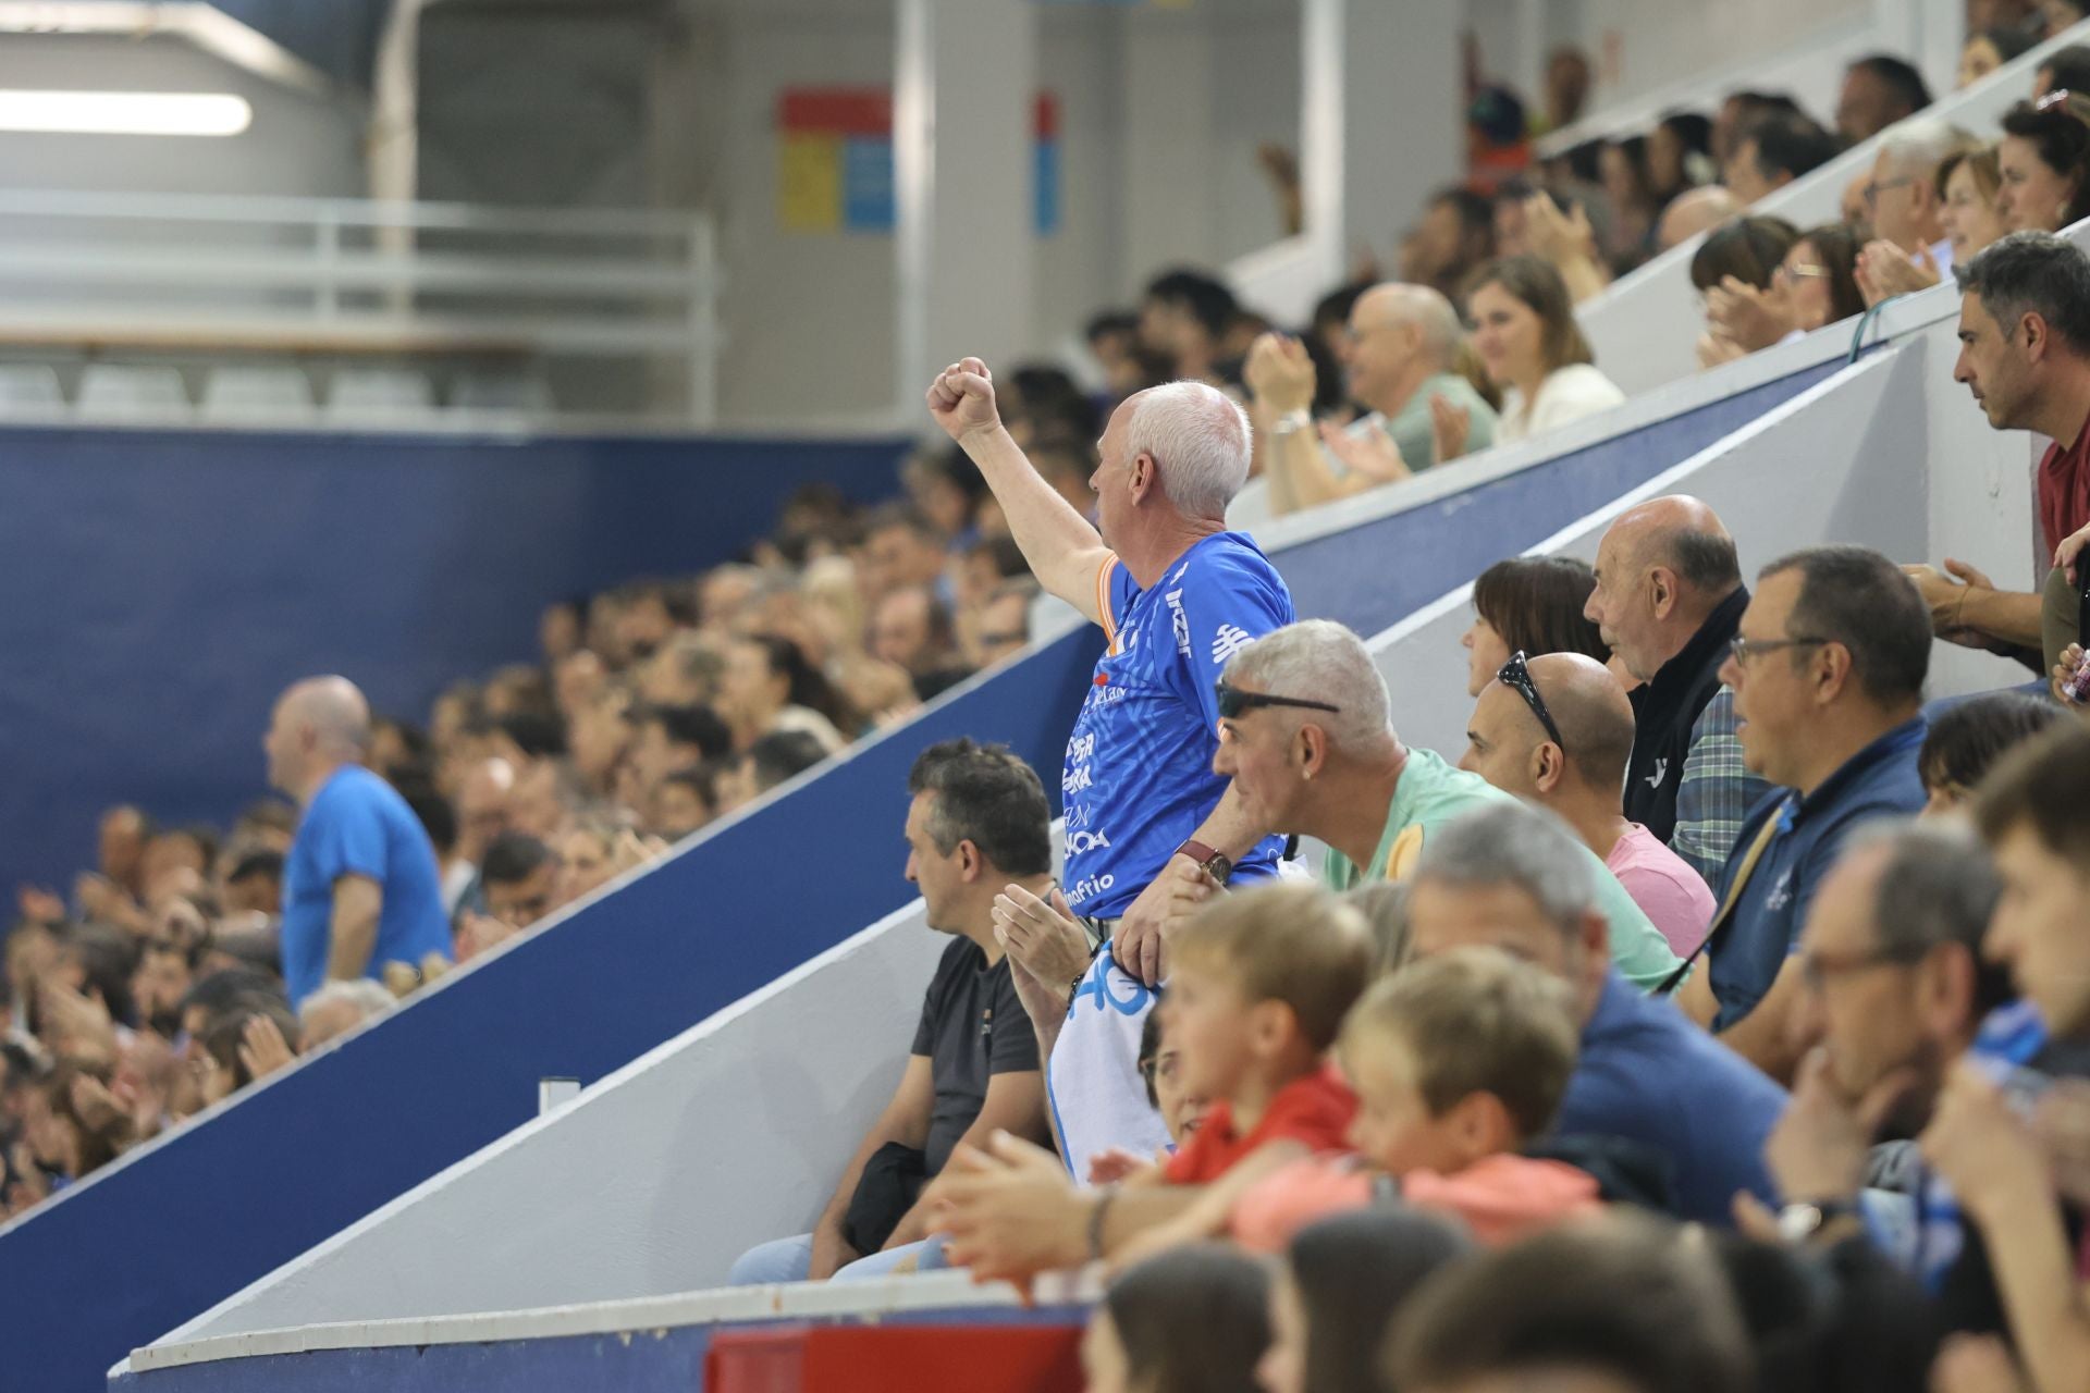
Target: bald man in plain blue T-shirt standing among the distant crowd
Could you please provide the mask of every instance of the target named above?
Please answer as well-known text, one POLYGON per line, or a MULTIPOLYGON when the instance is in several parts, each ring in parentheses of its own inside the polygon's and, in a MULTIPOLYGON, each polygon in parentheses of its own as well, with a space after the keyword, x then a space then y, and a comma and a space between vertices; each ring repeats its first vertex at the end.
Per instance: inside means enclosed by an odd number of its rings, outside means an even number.
POLYGON ((449 959, 435 848, 420 819, 362 766, 370 704, 345 677, 309 677, 276 700, 268 779, 303 817, 284 863, 282 977, 293 1005, 326 982, 420 973, 449 959))

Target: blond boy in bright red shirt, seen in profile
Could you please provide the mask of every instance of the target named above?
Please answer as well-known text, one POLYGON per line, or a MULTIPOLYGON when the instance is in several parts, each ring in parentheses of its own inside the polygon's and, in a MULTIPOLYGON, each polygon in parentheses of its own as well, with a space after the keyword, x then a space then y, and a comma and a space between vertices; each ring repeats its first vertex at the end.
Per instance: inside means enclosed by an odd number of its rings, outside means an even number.
POLYGON ((1325 1055, 1369 971, 1363 919, 1315 886, 1233 894, 1177 929, 1158 1011, 1183 1050, 1183 1086, 1212 1107, 1166 1167, 1124 1184, 1204 1188, 1112 1247, 1112 1261, 1218 1236, 1256 1180, 1344 1149, 1356 1094, 1325 1055))

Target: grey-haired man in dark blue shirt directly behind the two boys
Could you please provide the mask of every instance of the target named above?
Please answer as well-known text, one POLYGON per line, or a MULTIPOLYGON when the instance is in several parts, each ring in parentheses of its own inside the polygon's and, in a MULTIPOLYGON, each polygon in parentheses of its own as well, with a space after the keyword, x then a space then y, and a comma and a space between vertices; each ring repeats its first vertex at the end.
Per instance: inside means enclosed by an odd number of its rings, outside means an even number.
POLYGON ((1582 1036, 1555 1132, 1645 1149, 1668 1170, 1682 1218, 1731 1224, 1737 1190, 1776 1195, 1762 1147, 1785 1092, 1607 965, 1599 873, 1549 812, 1517 802, 1469 812, 1415 869, 1415 954, 1501 948, 1568 982, 1582 1036))

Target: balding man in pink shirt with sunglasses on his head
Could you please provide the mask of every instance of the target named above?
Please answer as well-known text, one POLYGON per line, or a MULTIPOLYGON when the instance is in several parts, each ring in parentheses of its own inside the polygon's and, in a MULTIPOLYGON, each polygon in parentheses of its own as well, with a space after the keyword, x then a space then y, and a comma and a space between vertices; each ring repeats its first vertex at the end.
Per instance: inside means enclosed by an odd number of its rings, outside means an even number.
POLYGON ((1697 950, 1716 908, 1712 890, 1620 806, 1632 702, 1607 666, 1582 654, 1540 654, 1522 668, 1511 658, 1482 689, 1465 739, 1459 769, 1557 812, 1676 957, 1697 950))

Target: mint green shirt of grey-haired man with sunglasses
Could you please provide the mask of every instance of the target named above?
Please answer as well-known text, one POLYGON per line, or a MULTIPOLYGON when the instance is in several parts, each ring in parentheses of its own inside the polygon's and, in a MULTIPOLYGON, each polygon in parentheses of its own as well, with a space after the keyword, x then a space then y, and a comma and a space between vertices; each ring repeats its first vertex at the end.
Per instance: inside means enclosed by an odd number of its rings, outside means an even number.
MULTIPOLYGON (((1369 877, 1402 881, 1413 875, 1430 833, 1440 831, 1463 812, 1505 800, 1513 802, 1509 794, 1480 775, 1453 769, 1436 752, 1409 750, 1409 762, 1400 769, 1400 781, 1394 785, 1394 802, 1386 808, 1379 850, 1371 854, 1371 875, 1336 848, 1329 848, 1321 873, 1336 890, 1354 890, 1369 877)), ((1676 971, 1676 954, 1670 952, 1668 940, 1641 913, 1626 888, 1618 883, 1618 877, 1597 860, 1597 852, 1580 844, 1576 850, 1588 860, 1590 877, 1597 881, 1597 908, 1611 925, 1611 965, 1643 992, 1655 990, 1676 971)))

